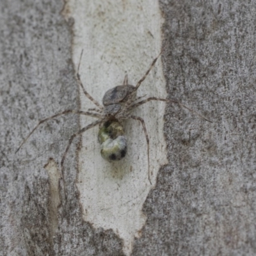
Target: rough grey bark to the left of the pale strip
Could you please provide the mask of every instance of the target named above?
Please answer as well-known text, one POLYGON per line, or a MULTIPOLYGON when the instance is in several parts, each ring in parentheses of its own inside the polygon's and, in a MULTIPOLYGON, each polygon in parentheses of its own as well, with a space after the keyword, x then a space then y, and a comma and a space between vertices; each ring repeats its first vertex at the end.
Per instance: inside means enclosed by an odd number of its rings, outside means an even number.
POLYGON ((79 140, 66 161, 67 204, 55 205, 58 216, 52 216, 45 168, 54 161, 60 171, 67 141, 79 129, 77 116, 43 124, 15 154, 38 120, 79 108, 72 20, 63 19, 62 8, 63 2, 52 0, 0 3, 0 255, 122 255, 122 241, 111 230, 95 230, 82 220, 74 185, 79 140))

